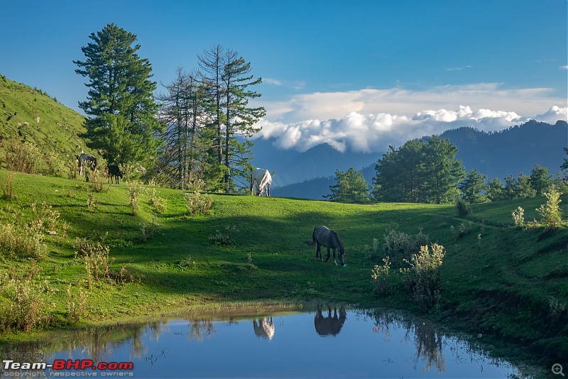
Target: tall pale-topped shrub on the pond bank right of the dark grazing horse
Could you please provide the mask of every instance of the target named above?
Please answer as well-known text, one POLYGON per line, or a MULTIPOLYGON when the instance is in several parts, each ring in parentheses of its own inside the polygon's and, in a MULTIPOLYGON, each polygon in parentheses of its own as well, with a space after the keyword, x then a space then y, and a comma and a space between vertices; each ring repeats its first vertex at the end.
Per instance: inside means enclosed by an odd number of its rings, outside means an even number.
POLYGON ((411 297, 422 310, 431 309, 439 304, 441 290, 442 261, 444 246, 433 243, 432 253, 428 246, 421 246, 420 253, 413 255, 410 269, 401 269, 411 297))

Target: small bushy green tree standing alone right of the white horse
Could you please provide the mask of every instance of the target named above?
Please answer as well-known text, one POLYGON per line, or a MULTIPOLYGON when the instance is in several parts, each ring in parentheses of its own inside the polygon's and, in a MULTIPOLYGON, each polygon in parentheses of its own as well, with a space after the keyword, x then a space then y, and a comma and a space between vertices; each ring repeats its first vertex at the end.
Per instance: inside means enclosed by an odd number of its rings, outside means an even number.
POLYGON ((326 196, 332 202, 368 202, 371 200, 363 172, 355 170, 354 167, 346 172, 336 170, 335 180, 337 183, 329 186, 332 193, 326 196))

